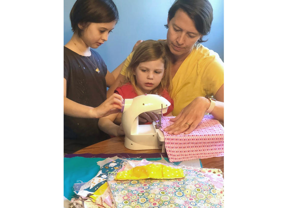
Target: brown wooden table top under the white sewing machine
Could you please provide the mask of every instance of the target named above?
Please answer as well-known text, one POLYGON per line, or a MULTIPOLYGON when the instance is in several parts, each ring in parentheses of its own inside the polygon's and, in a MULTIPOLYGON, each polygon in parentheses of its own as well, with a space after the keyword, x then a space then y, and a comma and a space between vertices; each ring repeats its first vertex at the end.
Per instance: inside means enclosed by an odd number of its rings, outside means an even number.
MULTIPOLYGON (((161 149, 156 150, 129 150, 124 146, 124 136, 114 137, 101 141, 99 143, 93 144, 89 147, 85 147, 74 154, 111 154, 111 153, 161 153, 161 149)), ((204 168, 218 168, 224 172, 224 157, 211 157, 207 159, 201 159, 202 166, 204 168)))

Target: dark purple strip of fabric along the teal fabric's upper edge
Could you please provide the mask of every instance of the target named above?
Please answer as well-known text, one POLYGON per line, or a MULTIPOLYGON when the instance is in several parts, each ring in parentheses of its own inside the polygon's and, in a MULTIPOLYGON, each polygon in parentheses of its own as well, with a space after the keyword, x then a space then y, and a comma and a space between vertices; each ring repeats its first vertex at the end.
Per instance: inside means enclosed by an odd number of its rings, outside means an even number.
POLYGON ((112 154, 91 154, 91 153, 84 153, 84 154, 66 154, 64 157, 100 157, 100 158, 107 158, 107 157, 126 157, 126 158, 134 158, 134 157, 141 157, 141 158, 156 158, 156 157, 168 157, 166 153, 141 153, 141 154, 132 154, 132 153, 112 153, 112 154))

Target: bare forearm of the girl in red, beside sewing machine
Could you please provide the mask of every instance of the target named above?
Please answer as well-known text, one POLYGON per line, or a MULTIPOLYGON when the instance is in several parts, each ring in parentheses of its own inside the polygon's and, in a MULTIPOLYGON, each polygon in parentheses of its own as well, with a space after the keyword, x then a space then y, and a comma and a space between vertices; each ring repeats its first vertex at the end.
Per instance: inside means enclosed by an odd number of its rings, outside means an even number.
POLYGON ((120 124, 120 126, 113 123, 117 115, 118 113, 114 113, 106 117, 100 118, 98 122, 99 128, 109 135, 114 136, 125 135, 122 123, 120 124))

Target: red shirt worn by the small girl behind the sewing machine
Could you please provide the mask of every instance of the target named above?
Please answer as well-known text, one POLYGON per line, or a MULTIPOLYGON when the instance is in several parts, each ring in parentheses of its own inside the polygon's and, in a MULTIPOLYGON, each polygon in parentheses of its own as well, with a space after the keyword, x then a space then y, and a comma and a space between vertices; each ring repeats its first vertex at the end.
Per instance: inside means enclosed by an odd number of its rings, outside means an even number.
MULTIPOLYGON (((133 86, 129 82, 122 85, 121 87, 116 88, 114 93, 121 95, 124 99, 131 99, 138 96, 133 86)), ((167 92, 166 89, 163 90, 163 92, 161 93, 161 96, 170 102, 170 106, 168 107, 167 112, 163 114, 163 116, 166 116, 173 110, 173 100, 170 98, 169 93, 167 92)), ((145 123, 145 124, 151 124, 151 123, 145 123)))

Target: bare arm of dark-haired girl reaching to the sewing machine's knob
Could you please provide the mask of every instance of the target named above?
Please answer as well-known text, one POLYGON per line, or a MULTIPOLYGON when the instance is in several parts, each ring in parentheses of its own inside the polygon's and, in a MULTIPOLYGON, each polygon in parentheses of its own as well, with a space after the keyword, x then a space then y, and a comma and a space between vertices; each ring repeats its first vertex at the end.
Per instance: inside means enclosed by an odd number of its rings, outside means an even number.
POLYGON ((111 95, 98 107, 90 107, 76 103, 66 97, 66 79, 63 78, 63 113, 79 118, 101 118, 111 113, 118 113, 122 108, 122 96, 111 95))

